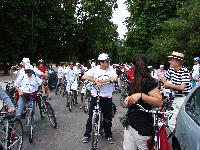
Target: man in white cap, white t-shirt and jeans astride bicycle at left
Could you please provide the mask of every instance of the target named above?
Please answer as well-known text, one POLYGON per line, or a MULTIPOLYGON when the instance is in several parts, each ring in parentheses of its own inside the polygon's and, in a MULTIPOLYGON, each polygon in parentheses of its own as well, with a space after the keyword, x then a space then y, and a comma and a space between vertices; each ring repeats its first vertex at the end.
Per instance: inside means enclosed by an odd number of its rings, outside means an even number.
POLYGON ((33 74, 34 69, 32 65, 26 65, 24 71, 25 74, 23 76, 20 75, 14 83, 14 86, 19 93, 19 101, 17 102, 18 107, 16 110, 17 117, 20 117, 23 113, 26 102, 34 101, 35 92, 42 84, 42 79, 33 74))

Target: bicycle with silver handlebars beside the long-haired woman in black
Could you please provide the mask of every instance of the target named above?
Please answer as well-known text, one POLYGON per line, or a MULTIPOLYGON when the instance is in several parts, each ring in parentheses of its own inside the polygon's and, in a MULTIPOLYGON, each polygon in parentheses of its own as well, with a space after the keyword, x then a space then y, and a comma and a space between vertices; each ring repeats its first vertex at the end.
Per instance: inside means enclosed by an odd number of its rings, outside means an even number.
MULTIPOLYGON (((144 107, 142 107, 140 104, 136 104, 139 107, 139 110, 151 113, 153 116, 153 127, 154 127, 154 150, 160 150, 160 129, 163 125, 165 125, 165 130, 167 132, 168 130, 168 120, 172 116, 172 111, 166 111, 162 112, 158 109, 155 110, 146 110, 144 107)), ((168 138, 168 135, 167 135, 168 138)))

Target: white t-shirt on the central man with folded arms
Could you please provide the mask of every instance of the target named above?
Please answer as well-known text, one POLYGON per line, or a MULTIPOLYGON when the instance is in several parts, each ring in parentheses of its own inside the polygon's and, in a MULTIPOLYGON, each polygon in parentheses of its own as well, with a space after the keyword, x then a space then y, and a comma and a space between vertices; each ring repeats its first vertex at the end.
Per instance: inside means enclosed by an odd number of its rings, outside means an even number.
MULTIPOLYGON (((100 79, 100 80, 105 80, 110 77, 117 77, 116 71, 113 69, 113 67, 110 66, 108 69, 102 70, 100 69, 99 65, 89 69, 85 73, 85 75, 96 78, 96 79, 100 79)), ((111 98, 112 92, 113 92, 113 84, 106 84, 100 88, 99 96, 111 98)), ((97 96, 97 91, 94 86, 92 86, 91 95, 93 97, 97 96)))

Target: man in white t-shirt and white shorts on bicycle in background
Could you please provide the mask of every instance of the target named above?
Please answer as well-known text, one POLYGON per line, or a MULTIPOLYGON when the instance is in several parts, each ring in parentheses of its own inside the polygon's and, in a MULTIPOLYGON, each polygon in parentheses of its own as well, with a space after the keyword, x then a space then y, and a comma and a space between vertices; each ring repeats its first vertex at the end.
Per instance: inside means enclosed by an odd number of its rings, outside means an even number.
MULTIPOLYGON (((78 89, 78 83, 77 83, 77 72, 76 69, 74 68, 74 63, 70 62, 69 63, 69 68, 65 70, 65 85, 66 85, 66 91, 73 90, 74 92, 74 98, 75 98, 75 104, 78 104, 77 101, 77 89, 78 89)), ((68 96, 67 96, 68 97, 68 96)), ((67 98, 67 104, 66 107, 68 107, 68 98, 67 98)))

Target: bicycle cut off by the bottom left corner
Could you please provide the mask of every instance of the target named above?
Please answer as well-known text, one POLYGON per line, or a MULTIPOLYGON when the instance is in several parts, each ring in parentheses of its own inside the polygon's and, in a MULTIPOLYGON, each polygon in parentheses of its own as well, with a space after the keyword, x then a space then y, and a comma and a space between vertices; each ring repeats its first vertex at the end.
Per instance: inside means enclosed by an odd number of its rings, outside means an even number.
POLYGON ((15 114, 0 110, 0 149, 21 150, 23 146, 23 126, 19 119, 13 120, 15 114))

